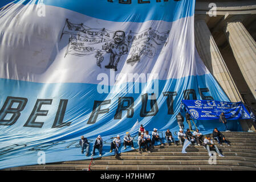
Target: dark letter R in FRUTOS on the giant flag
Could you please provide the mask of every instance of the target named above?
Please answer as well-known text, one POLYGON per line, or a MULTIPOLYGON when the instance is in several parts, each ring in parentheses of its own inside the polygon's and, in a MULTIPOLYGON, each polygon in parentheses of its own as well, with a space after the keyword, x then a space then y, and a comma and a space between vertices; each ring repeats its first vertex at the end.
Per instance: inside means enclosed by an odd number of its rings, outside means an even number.
POLYGON ((121 119, 123 110, 127 110, 127 118, 132 118, 134 114, 133 102, 133 97, 119 97, 118 106, 114 119, 121 119), (127 102, 127 106, 124 106, 125 102, 127 102))

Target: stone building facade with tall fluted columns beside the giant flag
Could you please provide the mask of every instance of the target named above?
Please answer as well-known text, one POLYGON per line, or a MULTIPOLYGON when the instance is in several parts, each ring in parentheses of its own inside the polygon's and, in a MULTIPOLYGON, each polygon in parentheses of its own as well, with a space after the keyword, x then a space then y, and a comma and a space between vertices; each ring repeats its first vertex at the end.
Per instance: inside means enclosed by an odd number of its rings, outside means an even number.
MULTIPOLYGON (((230 101, 242 101, 255 112, 256 1, 196 0, 194 32, 202 61, 230 101)), ((255 131, 248 119, 241 125, 255 131)))

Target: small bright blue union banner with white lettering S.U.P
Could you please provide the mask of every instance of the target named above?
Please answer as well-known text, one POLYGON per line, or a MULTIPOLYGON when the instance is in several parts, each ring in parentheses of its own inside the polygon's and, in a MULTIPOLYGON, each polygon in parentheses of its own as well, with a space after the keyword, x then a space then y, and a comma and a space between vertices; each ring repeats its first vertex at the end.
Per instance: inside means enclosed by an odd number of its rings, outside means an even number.
POLYGON ((250 119, 242 102, 182 100, 185 109, 194 119, 218 119, 223 112, 226 119, 250 119))

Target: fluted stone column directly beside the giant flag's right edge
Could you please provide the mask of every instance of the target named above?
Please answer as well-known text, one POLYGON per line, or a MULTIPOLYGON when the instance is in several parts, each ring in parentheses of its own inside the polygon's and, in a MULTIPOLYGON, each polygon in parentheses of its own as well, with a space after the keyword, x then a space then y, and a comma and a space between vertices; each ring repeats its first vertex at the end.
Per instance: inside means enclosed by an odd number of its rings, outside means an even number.
POLYGON ((194 23, 195 42, 197 51, 210 73, 216 78, 231 102, 242 101, 237 86, 226 67, 220 50, 206 24, 208 15, 196 15, 194 23))

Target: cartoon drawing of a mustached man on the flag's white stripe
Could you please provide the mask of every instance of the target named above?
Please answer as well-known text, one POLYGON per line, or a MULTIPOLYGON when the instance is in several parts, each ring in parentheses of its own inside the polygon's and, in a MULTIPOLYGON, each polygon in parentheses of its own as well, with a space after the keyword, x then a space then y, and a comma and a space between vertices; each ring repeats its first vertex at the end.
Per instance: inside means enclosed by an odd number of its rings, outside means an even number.
POLYGON ((116 31, 114 36, 113 36, 114 41, 105 44, 103 46, 103 50, 106 52, 110 52, 110 59, 109 59, 109 64, 105 65, 105 68, 108 69, 115 69, 117 71, 117 64, 120 60, 120 57, 122 55, 125 55, 128 52, 128 46, 125 44, 124 39, 125 39, 125 33, 124 31, 116 31))

